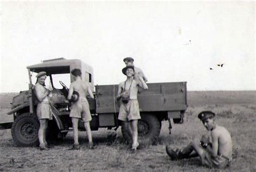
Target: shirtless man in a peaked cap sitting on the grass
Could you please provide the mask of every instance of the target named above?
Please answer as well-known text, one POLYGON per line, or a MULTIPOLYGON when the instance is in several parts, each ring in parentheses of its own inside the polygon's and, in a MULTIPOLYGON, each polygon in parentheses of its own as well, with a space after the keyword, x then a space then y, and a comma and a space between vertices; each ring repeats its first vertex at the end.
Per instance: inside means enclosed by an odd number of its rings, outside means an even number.
POLYGON ((203 111, 198 114, 209 135, 203 135, 200 144, 193 141, 181 150, 172 150, 166 146, 166 152, 172 160, 188 159, 199 156, 201 162, 210 168, 225 168, 232 157, 232 140, 225 127, 215 123, 215 114, 203 111))

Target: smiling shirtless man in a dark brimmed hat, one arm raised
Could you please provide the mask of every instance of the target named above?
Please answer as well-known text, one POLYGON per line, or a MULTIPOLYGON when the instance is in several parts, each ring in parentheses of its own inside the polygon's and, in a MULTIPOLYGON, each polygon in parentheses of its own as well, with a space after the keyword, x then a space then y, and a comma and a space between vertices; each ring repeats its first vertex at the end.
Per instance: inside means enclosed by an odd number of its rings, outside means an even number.
POLYGON ((139 103, 137 100, 138 88, 142 87, 147 89, 147 84, 143 80, 142 76, 134 73, 133 66, 126 66, 122 70, 123 74, 127 76, 126 81, 121 82, 118 86, 117 101, 121 99, 122 103, 119 109, 118 119, 122 120, 126 131, 132 137, 132 150, 136 150, 139 146, 138 143, 138 119, 139 103), (136 76, 139 81, 134 80, 133 76, 136 76))

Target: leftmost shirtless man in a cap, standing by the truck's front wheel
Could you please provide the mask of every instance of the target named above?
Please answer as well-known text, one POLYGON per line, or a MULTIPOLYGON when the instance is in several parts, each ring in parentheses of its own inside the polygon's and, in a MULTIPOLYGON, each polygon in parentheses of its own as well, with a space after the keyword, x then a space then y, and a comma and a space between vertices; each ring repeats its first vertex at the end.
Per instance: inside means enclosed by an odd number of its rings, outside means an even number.
POLYGON ((36 97, 38 99, 38 105, 37 105, 37 117, 39 119, 40 127, 38 131, 38 139, 40 142, 40 150, 45 150, 46 147, 48 147, 48 144, 46 142, 45 133, 46 128, 48 127, 48 120, 52 119, 52 111, 51 106, 49 103, 48 96, 52 90, 46 89, 44 87, 45 85, 45 79, 46 79, 46 72, 41 71, 37 75, 37 81, 36 85, 33 88, 35 91, 36 97))

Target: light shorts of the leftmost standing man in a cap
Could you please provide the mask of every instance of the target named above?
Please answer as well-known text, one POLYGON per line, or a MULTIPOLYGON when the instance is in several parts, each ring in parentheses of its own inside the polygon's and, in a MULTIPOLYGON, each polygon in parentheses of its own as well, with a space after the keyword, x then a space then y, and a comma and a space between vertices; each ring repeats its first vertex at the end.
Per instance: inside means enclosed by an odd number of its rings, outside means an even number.
POLYGON ((49 102, 39 102, 36 108, 37 118, 52 120, 51 105, 49 102))

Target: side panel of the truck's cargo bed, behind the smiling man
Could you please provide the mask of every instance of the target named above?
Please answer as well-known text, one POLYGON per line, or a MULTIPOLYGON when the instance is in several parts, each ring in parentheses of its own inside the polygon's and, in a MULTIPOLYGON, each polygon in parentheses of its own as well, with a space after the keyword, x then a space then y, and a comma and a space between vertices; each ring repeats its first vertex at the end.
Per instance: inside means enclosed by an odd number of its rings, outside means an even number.
MULTIPOLYGON (((186 82, 148 83, 149 89, 140 88, 140 112, 185 111, 187 108, 186 82)), ((118 85, 96 85, 96 113, 118 113, 116 102, 118 85)))

